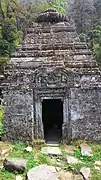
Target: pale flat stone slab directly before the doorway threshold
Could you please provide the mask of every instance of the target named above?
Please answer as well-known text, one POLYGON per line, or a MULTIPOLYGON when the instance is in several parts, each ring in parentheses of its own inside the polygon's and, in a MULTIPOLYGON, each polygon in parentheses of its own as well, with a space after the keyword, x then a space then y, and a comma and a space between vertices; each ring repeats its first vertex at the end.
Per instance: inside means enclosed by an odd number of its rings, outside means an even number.
POLYGON ((47 155, 61 156, 62 152, 59 147, 42 147, 41 152, 47 155))

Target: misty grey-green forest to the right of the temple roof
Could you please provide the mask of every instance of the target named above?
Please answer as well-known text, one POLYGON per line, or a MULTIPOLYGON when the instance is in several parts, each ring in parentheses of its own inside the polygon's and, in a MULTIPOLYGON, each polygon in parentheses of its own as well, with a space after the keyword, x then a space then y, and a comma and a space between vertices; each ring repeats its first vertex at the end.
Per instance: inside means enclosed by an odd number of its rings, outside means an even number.
POLYGON ((74 0, 69 15, 75 22, 80 38, 88 43, 101 64, 101 1, 74 0))

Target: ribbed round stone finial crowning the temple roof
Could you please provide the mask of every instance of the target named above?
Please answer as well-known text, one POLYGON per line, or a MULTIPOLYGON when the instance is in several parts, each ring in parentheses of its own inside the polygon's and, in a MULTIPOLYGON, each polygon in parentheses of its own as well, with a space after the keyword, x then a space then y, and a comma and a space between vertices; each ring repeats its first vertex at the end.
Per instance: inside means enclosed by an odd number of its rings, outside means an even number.
POLYGON ((37 22, 46 22, 46 23, 57 23, 57 22, 62 22, 66 21, 68 22, 68 18, 56 12, 54 9, 47 9, 45 12, 42 12, 36 19, 37 22))

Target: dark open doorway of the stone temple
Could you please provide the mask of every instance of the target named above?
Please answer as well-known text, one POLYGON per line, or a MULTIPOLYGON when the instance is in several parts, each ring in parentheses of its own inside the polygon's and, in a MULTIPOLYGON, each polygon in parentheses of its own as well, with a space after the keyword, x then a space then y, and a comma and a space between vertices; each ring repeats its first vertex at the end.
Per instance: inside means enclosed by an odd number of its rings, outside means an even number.
POLYGON ((42 119, 46 142, 60 142, 63 124, 63 102, 61 99, 43 100, 42 119))

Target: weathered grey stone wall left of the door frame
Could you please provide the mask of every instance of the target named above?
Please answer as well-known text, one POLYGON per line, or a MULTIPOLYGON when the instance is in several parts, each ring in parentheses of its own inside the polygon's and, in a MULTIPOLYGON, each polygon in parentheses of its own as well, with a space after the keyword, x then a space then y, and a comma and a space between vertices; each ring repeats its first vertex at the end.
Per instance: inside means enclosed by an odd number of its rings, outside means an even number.
POLYGON ((4 92, 4 127, 8 140, 32 140, 32 105, 33 95, 30 92, 10 90, 4 92))

